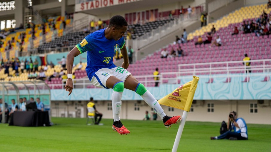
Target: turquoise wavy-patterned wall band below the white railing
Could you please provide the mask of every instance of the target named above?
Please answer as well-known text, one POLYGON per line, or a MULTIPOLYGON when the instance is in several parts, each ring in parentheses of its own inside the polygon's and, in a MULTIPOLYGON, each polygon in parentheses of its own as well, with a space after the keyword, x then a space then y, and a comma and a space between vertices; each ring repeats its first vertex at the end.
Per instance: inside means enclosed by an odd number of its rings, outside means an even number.
MULTIPOLYGON (((250 78, 250 82, 241 82, 244 77, 233 77, 230 83, 223 83, 226 78, 215 78, 213 83, 207 84, 208 79, 200 79, 194 96, 195 100, 259 100, 271 99, 271 82, 261 82, 263 76, 250 78)), ((182 85, 191 79, 182 79, 182 85)), ((158 100, 171 93, 179 85, 163 84, 160 87, 147 87, 158 100)), ((112 89, 73 89, 68 96, 64 89, 51 90, 52 101, 63 100, 111 100, 112 89)), ((124 89, 122 100, 142 100, 141 96, 131 90, 124 89)))

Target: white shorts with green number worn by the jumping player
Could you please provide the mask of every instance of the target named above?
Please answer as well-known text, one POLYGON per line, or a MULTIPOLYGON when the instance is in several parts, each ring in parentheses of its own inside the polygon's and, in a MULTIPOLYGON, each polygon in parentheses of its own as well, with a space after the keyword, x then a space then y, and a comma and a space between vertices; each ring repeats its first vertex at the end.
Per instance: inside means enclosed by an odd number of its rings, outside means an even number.
POLYGON ((114 67, 112 69, 102 68, 95 72, 90 82, 96 87, 108 89, 106 87, 106 81, 110 76, 115 76, 124 83, 126 78, 130 75, 131 73, 122 67, 114 67))

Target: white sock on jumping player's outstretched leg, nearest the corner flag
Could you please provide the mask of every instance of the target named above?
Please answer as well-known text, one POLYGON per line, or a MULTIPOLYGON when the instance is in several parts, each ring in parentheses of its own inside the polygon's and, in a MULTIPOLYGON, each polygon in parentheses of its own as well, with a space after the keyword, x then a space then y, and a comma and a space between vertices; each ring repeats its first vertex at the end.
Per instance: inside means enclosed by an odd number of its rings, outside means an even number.
POLYGON ((149 90, 147 90, 142 96, 144 101, 153 108, 156 113, 160 116, 160 118, 163 120, 164 116, 166 116, 164 110, 162 109, 161 105, 157 102, 157 100, 153 97, 153 95, 150 93, 149 90))

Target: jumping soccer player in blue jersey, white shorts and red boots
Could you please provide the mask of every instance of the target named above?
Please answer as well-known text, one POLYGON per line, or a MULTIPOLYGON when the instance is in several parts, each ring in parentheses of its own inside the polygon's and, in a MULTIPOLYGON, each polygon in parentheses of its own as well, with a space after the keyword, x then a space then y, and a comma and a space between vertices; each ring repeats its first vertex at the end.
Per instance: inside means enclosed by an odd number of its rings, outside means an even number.
POLYGON ((126 135, 130 131, 122 125, 120 121, 121 97, 124 88, 138 93, 144 101, 153 108, 163 120, 165 127, 169 128, 172 124, 177 124, 181 116, 167 116, 157 100, 144 85, 139 83, 132 74, 126 69, 129 67, 127 49, 125 46, 124 33, 128 27, 127 21, 122 16, 113 16, 109 21, 109 26, 90 33, 79 44, 77 44, 67 55, 68 80, 65 90, 71 94, 72 84, 72 65, 74 57, 80 53, 87 53, 86 72, 90 82, 106 89, 113 89, 112 111, 114 122, 113 130, 119 134, 126 135), (113 57, 121 49, 124 62, 122 67, 116 67, 113 57))

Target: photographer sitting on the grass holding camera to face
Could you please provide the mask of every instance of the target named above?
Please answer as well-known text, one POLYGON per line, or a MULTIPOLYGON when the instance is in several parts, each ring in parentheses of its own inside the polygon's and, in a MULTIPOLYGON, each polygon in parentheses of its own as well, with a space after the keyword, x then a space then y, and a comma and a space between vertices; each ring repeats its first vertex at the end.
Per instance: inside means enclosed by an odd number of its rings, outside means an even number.
POLYGON ((221 134, 220 136, 211 137, 213 139, 230 139, 230 140, 247 140, 247 126, 243 118, 236 119, 236 112, 229 114, 228 121, 229 131, 221 134), (229 125, 231 124, 231 125, 229 125), (234 130, 233 132, 231 130, 234 130))

